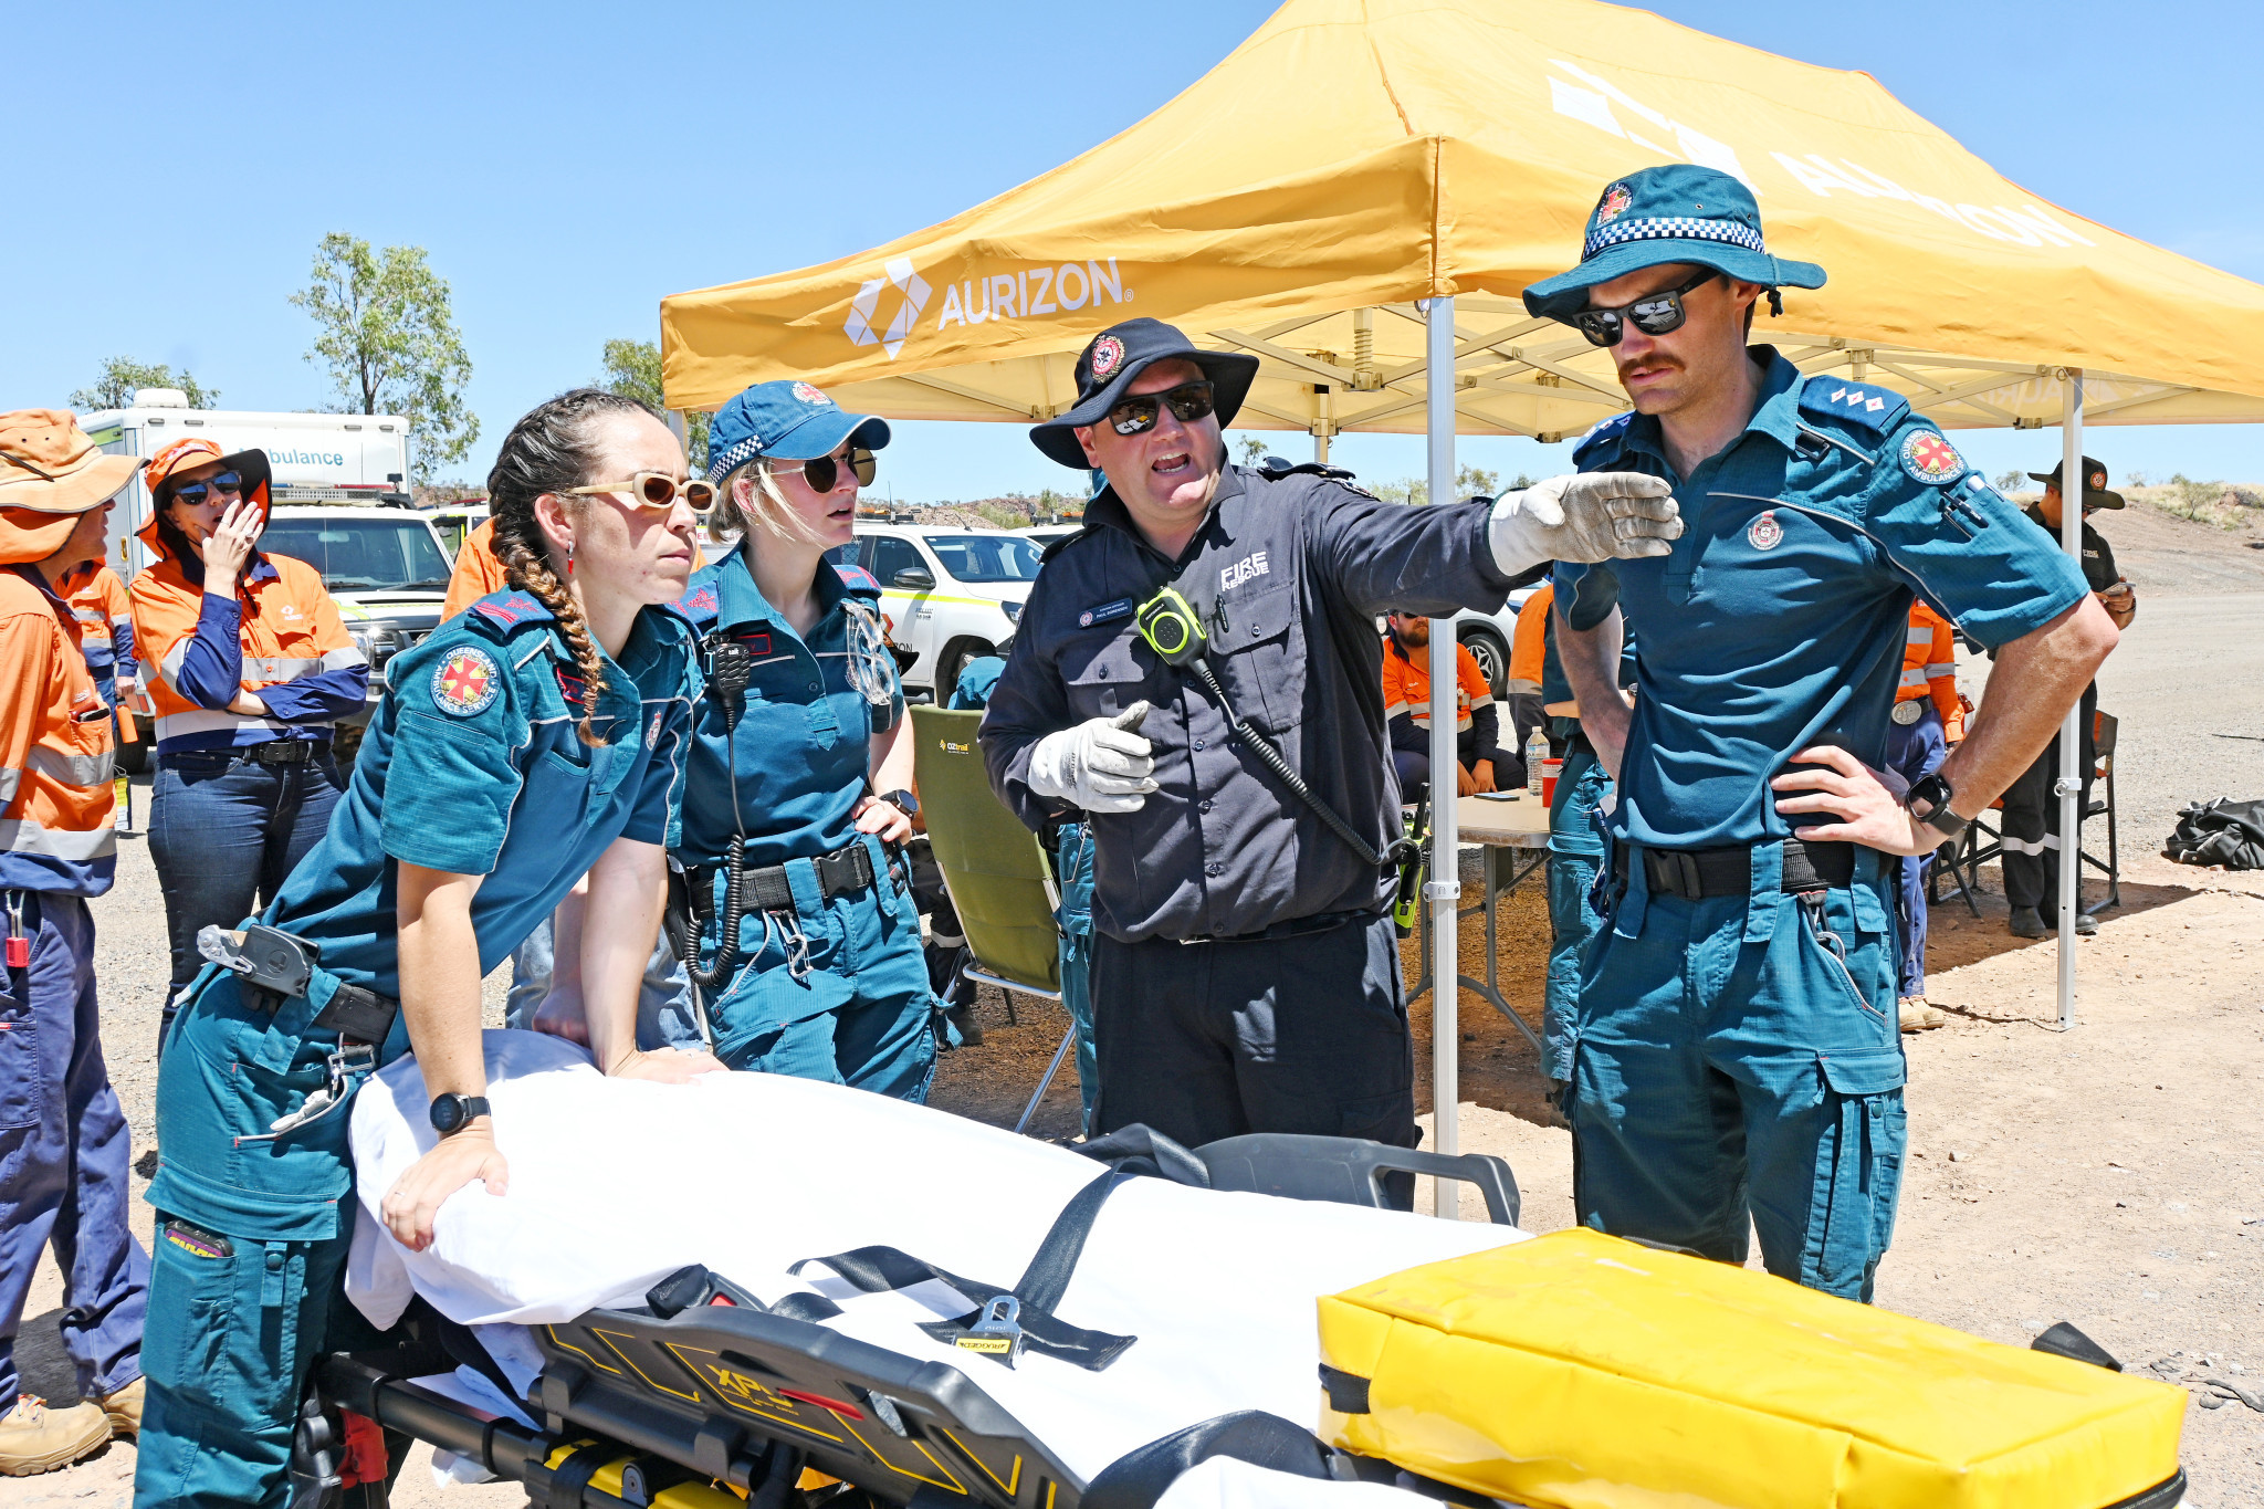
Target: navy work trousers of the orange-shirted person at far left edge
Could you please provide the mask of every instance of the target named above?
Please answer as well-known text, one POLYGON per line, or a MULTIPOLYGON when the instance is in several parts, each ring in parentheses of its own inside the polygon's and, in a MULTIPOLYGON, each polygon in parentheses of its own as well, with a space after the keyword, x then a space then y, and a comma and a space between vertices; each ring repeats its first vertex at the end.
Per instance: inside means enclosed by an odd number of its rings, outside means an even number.
POLYGON ((16 1330, 48 1242, 82 1396, 140 1376, 149 1292, 149 1258, 127 1228, 127 1122, 102 1061, 95 919, 79 896, 5 896, 32 964, 0 971, 0 1412, 16 1407, 16 1330))

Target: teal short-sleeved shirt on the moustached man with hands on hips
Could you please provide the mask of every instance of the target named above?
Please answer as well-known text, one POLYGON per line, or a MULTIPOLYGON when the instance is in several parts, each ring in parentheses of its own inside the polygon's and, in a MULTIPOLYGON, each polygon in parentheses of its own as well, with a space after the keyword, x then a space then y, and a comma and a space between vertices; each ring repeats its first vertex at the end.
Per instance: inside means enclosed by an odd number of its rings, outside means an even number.
POLYGON ((1752 357, 1752 423, 1689 480, 1646 414, 1573 450, 1580 471, 1675 482, 1687 525, 1666 557, 1555 566, 1573 629, 1616 602, 1644 640, 1612 814, 1644 848, 1786 837, 1768 781, 1809 744, 1886 765, 1913 593, 1995 649, 2090 590, 1899 394, 1752 357))

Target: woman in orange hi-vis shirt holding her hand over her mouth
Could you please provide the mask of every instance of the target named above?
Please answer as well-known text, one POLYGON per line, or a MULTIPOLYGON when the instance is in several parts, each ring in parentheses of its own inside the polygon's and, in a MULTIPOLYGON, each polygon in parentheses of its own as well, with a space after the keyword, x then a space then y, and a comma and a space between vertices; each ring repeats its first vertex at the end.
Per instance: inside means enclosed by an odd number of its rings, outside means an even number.
POLYGON ((267 452, 174 441, 143 468, 149 568, 134 577, 136 656, 154 670, 149 857, 165 896, 172 982, 158 1052, 197 977, 197 930, 235 925, 331 826, 337 719, 369 695, 321 572, 258 547, 267 452))

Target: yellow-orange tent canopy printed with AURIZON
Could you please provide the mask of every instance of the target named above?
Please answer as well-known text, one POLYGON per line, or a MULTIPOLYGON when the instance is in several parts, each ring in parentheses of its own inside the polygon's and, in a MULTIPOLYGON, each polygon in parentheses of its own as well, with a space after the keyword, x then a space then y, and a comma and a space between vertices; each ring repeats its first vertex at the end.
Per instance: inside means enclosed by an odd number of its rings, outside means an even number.
POLYGON ((661 301, 670 407, 808 378, 892 419, 1050 419, 1132 314, 1257 353, 1241 428, 1422 432, 1415 299, 1456 299, 1465 434, 1626 407, 1610 355, 1526 317, 1598 192, 1671 161, 1759 195, 1823 262, 1755 339, 1945 428, 2264 421, 2264 287, 2044 204, 1866 72, 1596 0, 1288 0, 1180 97, 926 231, 661 301))

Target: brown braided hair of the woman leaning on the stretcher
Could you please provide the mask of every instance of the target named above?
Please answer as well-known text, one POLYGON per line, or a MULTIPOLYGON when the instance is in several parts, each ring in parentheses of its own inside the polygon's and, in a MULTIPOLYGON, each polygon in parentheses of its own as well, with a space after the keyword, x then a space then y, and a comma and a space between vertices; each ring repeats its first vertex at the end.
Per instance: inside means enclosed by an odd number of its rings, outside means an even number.
POLYGON ((582 672, 582 724, 577 733, 584 744, 602 744, 591 713, 604 692, 604 658, 598 654, 582 606, 559 579, 550 561, 550 541, 534 518, 534 500, 543 493, 561 495, 571 511, 580 514, 586 498, 564 498, 566 489, 584 486, 602 462, 598 452, 600 423, 611 414, 643 414, 652 409, 636 398, 607 394, 595 387, 577 387, 568 394, 530 409, 512 432, 503 437, 496 466, 487 473, 487 511, 496 520, 496 559, 503 563, 512 586, 532 593, 559 624, 566 647, 582 672))

